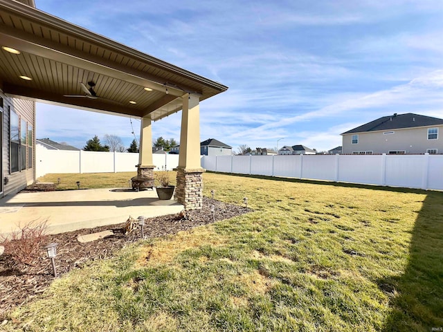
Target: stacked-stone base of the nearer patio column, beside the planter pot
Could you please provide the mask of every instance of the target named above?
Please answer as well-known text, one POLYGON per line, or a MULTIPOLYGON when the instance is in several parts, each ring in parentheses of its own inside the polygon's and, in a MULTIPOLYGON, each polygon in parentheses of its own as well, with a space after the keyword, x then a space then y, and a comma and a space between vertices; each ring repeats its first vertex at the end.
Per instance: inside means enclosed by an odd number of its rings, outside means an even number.
POLYGON ((201 210, 203 206, 204 169, 174 169, 177 171, 177 185, 174 199, 183 204, 185 210, 201 210))

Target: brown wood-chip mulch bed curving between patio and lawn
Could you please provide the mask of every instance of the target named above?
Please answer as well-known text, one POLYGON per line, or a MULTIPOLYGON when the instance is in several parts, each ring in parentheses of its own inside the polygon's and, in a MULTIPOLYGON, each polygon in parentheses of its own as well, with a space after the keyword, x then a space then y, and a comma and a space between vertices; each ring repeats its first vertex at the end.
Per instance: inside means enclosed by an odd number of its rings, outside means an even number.
MULTIPOLYGON (((213 223, 211 205, 215 205, 215 221, 246 213, 242 206, 204 197, 202 210, 189 211, 184 215, 170 214, 146 219, 145 239, 176 234, 182 230, 213 223)), ((118 225, 48 235, 45 243, 58 243, 55 265, 60 276, 70 270, 82 268, 89 261, 113 257, 116 250, 128 243, 138 241, 140 237, 141 232, 137 229, 125 234, 125 221, 123 221, 118 225), (80 243, 77 240, 80 234, 91 234, 103 230, 112 230, 114 235, 88 243, 80 243)), ((53 282, 51 261, 46 258, 44 249, 40 257, 29 263, 17 263, 7 253, 0 256, 0 322, 7 317, 8 311, 37 297, 53 282)))

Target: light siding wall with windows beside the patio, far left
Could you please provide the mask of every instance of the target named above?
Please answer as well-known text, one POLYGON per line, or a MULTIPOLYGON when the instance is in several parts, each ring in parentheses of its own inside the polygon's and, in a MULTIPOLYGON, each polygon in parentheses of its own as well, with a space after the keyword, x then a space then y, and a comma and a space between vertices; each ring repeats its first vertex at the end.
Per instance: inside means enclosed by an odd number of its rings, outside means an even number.
MULTIPOLYGON (((3 184, 3 193, 1 196, 8 194, 14 194, 19 190, 30 185, 35 181, 35 102, 30 100, 21 100, 17 98, 9 98, 0 90, 0 97, 3 98, 3 133, 2 133, 2 171, 1 183, 3 184), (10 172, 10 114, 9 109, 15 111, 19 116, 19 123, 21 119, 25 120, 28 125, 33 126, 33 167, 30 169, 24 169, 20 172, 10 172), (5 179, 8 182, 4 184, 5 179)), ((26 156, 28 156, 28 149, 26 149, 26 156)), ((1 187, 0 187, 1 192, 1 187)))

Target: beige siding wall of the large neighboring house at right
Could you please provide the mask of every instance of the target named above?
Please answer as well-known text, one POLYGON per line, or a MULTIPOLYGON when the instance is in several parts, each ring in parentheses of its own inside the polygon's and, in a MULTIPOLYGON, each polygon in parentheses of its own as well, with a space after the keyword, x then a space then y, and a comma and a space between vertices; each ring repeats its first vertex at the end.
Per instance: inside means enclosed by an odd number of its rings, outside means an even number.
POLYGON ((343 134, 343 154, 352 154, 354 151, 372 151, 373 154, 388 154, 389 151, 424 154, 427 149, 437 149, 439 154, 443 153, 443 125, 343 134), (428 128, 438 128, 437 140, 428 140, 428 128), (394 133, 385 134, 388 131, 394 133), (353 135, 359 135, 357 144, 352 144, 353 135))

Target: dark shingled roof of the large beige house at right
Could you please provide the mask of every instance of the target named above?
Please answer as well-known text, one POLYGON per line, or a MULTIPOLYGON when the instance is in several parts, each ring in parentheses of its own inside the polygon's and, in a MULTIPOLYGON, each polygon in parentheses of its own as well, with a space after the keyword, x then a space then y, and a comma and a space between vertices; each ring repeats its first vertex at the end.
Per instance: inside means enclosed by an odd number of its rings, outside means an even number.
POLYGON ((360 127, 345 131, 341 135, 345 135, 346 133, 364 133, 367 131, 428 127, 440 124, 443 124, 443 119, 440 118, 420 116, 419 114, 414 113, 394 113, 392 116, 383 116, 383 118, 378 118, 377 120, 365 123, 360 127))

